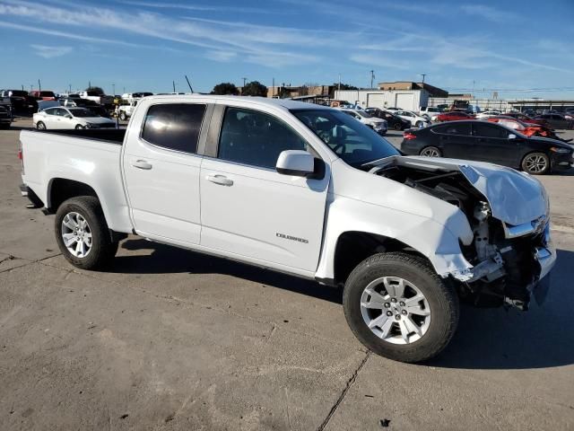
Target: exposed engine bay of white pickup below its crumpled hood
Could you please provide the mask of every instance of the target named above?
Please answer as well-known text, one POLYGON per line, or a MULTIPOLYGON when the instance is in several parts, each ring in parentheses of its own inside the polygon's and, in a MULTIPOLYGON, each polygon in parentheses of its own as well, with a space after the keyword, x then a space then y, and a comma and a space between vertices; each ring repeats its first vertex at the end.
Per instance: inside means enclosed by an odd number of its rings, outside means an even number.
POLYGON ((550 230, 547 217, 526 224, 505 223, 493 216, 488 198, 468 179, 463 171, 468 167, 438 168, 430 163, 427 168, 424 163, 397 161, 378 164, 370 173, 458 207, 471 225, 473 242, 460 246, 474 268, 468 275, 451 277, 457 283, 461 299, 477 306, 515 306, 526 311, 534 287, 545 275, 539 258, 544 258, 545 252, 550 253, 546 248, 550 230))

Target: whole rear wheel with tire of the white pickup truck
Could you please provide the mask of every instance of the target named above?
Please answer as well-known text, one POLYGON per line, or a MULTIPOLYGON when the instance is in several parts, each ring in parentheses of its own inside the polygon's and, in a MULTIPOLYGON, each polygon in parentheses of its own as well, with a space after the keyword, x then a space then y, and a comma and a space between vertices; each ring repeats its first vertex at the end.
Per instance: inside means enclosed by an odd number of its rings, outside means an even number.
POLYGON ((56 213, 56 240, 65 259, 82 269, 101 268, 116 256, 100 201, 92 196, 66 200, 56 213))

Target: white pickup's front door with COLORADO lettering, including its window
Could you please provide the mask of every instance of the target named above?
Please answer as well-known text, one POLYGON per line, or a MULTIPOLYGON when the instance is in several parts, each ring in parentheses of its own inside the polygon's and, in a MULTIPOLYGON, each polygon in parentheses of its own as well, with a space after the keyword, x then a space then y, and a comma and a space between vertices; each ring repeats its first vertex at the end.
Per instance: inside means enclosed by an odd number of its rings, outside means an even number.
POLYGON ((321 179, 276 172, 284 150, 314 150, 298 131, 269 113, 219 105, 212 125, 201 169, 201 245, 290 272, 314 272, 328 166, 321 179), (221 128, 215 127, 218 115, 221 128))

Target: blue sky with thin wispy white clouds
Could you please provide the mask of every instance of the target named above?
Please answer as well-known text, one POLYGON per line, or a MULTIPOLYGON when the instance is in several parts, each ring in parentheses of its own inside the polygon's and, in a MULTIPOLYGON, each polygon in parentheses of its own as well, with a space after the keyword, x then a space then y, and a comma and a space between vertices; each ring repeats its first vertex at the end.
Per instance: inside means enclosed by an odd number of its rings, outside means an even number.
POLYGON ((425 82, 574 99, 574 0, 0 0, 0 88, 425 82))

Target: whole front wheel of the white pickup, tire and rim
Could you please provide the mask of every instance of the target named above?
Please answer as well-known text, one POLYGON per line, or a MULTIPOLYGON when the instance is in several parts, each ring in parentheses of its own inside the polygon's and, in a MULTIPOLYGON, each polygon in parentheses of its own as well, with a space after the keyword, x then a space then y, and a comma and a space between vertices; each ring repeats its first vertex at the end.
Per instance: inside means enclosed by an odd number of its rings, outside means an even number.
POLYGON ((345 283, 343 307, 355 337, 396 361, 437 356, 457 330, 454 289, 425 259, 406 253, 363 260, 345 283))

